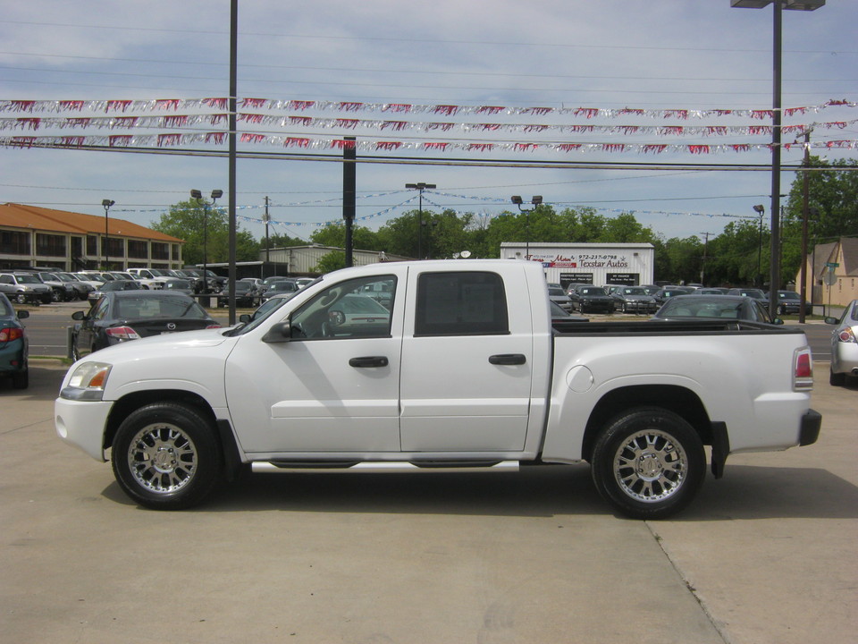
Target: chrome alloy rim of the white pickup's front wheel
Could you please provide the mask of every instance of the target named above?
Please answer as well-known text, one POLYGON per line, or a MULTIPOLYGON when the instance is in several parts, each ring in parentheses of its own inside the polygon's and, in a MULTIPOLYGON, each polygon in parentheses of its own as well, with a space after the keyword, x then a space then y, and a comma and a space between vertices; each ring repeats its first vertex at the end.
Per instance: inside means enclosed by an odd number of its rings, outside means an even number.
POLYGON ((131 439, 128 467, 140 487, 156 494, 172 494, 193 480, 197 448, 181 428, 153 423, 131 439))

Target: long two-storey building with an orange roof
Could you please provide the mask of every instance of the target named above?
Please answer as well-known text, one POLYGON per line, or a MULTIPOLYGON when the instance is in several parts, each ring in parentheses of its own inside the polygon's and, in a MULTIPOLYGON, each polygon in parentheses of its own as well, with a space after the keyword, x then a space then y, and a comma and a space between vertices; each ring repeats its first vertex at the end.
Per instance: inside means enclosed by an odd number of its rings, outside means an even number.
POLYGON ((0 268, 181 268, 184 242, 110 216, 0 205, 0 268))

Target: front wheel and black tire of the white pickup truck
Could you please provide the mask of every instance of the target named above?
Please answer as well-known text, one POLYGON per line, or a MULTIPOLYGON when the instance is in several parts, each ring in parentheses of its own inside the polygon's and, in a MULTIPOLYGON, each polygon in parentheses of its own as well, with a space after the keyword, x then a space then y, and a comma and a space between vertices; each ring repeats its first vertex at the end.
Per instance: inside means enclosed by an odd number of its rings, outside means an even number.
POLYGON ((111 461, 125 494, 153 510, 201 503, 223 470, 214 428, 197 409, 178 402, 132 411, 116 431, 111 461))

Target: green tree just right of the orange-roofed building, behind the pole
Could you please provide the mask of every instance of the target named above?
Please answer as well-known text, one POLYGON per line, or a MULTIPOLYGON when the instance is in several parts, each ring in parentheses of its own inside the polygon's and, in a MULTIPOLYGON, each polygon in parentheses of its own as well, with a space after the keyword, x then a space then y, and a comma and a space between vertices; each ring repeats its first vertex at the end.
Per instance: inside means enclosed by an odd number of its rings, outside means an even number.
MULTIPOLYGON (((230 225, 223 208, 203 208, 197 199, 180 201, 151 227, 185 242, 181 250, 185 264, 214 264, 230 258, 230 225)), ((248 231, 237 231, 235 241, 237 261, 259 258, 259 242, 248 231)))

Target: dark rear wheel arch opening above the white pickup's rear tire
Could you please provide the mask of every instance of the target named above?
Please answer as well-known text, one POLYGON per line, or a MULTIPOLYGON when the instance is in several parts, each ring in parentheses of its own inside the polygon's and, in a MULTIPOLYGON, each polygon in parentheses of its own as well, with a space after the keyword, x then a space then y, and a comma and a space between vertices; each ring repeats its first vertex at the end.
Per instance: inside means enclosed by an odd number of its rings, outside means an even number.
POLYGON ((609 419, 633 407, 661 407, 682 417, 697 432, 703 445, 712 445, 711 419, 700 397, 690 389, 676 385, 634 385, 614 389, 593 407, 584 433, 582 456, 590 461, 593 445, 609 419))

